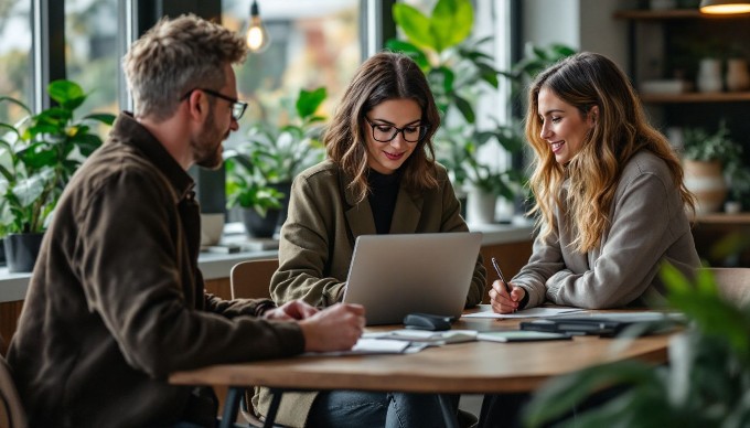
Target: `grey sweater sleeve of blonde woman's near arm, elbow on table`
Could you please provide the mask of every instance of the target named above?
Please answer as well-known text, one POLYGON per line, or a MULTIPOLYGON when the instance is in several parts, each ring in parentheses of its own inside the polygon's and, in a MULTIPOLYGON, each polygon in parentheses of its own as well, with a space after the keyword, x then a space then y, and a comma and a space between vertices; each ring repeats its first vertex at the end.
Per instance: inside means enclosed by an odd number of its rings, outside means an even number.
POLYGON ((668 178, 641 172, 623 179, 612 224, 588 270, 560 269, 546 281, 547 298, 589 309, 623 307, 651 286, 667 248, 677 239, 684 206, 668 178), (676 226, 674 226, 676 227, 676 226))

